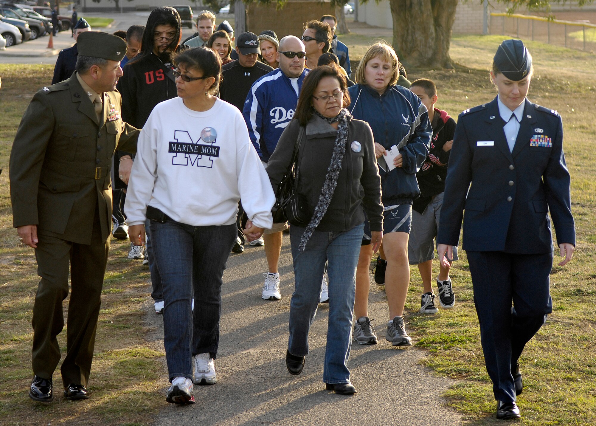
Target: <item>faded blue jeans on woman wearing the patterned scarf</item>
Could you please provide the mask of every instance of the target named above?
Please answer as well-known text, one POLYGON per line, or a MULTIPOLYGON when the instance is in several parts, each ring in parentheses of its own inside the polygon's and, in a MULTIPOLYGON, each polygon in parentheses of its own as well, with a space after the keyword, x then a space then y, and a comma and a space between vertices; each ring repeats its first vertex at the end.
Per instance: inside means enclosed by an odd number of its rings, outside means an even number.
POLYGON ((352 316, 356 291, 356 266, 364 223, 345 232, 314 231, 302 253, 298 251, 305 228, 292 225, 290 242, 294 259, 296 289, 290 302, 288 351, 308 354, 308 332, 319 305, 327 263, 329 277, 329 322, 323 381, 349 383, 347 359, 352 346, 352 316))

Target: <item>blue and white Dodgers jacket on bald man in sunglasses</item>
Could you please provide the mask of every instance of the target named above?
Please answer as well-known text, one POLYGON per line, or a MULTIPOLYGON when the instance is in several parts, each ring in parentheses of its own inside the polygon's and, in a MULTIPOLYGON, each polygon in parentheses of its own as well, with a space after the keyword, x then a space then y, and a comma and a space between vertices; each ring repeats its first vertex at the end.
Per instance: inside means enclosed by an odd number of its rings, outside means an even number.
POLYGON ((255 81, 246 95, 242 115, 249 128, 250 140, 264 162, 268 162, 294 116, 306 74, 308 70, 297 79, 298 93, 290 78, 278 68, 255 81))

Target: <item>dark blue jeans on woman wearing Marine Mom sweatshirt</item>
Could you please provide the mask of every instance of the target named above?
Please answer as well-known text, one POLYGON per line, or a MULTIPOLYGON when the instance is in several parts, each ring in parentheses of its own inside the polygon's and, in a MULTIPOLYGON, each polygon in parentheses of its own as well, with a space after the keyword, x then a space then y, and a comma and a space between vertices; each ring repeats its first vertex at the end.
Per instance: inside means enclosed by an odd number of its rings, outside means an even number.
POLYGON ((238 229, 235 223, 191 226, 171 219, 151 221, 150 228, 163 285, 168 377, 192 378, 192 357, 209 352, 215 359, 218 351, 222 275, 238 229))

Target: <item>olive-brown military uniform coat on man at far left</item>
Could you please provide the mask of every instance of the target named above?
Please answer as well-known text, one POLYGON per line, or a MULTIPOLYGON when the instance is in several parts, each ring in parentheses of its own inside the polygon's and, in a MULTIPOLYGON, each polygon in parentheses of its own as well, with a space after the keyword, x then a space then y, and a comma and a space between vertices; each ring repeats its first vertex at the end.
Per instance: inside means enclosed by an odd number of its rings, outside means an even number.
POLYGON ((120 118, 122 99, 104 92, 98 123, 76 75, 33 96, 10 158, 13 226, 89 244, 95 209, 101 236, 111 230, 110 167, 114 150, 136 152, 139 130, 120 118))

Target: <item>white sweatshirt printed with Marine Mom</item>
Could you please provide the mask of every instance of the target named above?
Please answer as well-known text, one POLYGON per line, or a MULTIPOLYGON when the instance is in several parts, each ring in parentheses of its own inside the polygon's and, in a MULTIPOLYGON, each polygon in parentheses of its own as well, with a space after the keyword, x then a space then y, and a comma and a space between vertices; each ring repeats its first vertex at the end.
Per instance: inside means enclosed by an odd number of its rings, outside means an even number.
POLYGON ((240 111, 220 99, 203 112, 179 97, 157 104, 126 192, 129 226, 144 223, 148 205, 192 226, 229 225, 240 199, 255 226, 272 227, 275 195, 240 111))

